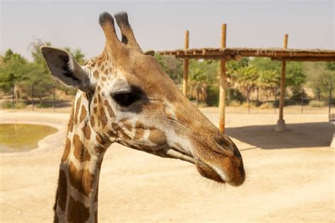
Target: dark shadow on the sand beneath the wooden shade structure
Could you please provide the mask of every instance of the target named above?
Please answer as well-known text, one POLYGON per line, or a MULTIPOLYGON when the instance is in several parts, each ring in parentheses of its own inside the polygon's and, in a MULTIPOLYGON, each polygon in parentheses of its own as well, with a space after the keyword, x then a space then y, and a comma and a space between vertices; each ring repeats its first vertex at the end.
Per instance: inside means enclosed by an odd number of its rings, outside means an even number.
POLYGON ((286 127, 288 131, 281 133, 274 131, 274 125, 227 128, 226 133, 254 145, 245 150, 327 147, 334 133, 334 125, 328 122, 286 124, 286 127))

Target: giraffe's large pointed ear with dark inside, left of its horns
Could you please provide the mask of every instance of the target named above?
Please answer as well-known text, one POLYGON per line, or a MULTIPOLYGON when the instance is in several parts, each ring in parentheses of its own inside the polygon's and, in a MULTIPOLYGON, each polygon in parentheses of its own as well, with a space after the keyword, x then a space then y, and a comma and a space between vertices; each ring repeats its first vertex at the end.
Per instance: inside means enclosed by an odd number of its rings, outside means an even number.
POLYGON ((54 80, 69 88, 91 92, 90 78, 74 57, 63 49, 42 46, 40 48, 54 80))

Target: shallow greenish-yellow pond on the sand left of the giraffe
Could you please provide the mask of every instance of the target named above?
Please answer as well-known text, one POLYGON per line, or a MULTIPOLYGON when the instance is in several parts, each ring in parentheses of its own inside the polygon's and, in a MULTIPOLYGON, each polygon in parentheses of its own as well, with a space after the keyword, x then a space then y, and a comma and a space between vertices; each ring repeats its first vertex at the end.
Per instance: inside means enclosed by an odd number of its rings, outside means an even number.
POLYGON ((57 128, 33 124, 0 124, 0 152, 25 152, 38 147, 47 135, 57 128))

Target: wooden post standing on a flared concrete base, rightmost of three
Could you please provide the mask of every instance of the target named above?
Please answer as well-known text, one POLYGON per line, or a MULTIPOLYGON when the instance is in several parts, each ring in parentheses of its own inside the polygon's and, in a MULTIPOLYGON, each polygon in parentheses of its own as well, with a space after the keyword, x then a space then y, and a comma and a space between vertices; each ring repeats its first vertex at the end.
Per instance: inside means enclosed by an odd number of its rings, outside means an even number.
MULTIPOLYGON (((288 48, 288 35, 284 36, 284 44, 283 49, 288 48)), ((277 125, 274 128, 275 131, 286 131, 285 120, 283 119, 283 107, 285 100, 285 84, 286 84, 286 61, 283 60, 283 64, 281 65, 281 97, 279 102, 279 119, 277 121, 277 125)))

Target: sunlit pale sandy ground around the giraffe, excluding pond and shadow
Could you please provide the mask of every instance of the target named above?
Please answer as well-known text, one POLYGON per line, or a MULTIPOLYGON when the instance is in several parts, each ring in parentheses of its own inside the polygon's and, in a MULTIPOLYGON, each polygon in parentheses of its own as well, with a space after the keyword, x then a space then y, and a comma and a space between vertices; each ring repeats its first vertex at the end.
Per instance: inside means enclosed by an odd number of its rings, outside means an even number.
MULTIPOLYGON (((203 110, 216 123, 216 109, 203 110)), ((68 117, 0 111, 0 123, 59 128, 37 150, 0 155, 0 222, 52 222, 68 117)), ((289 130, 275 133, 271 112, 227 114, 247 169, 238 188, 201 178, 187 162, 112 145, 100 176, 100 222, 334 222, 334 127, 326 113, 285 119, 289 130)))

